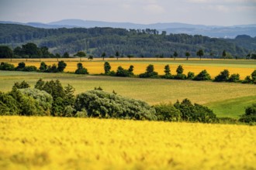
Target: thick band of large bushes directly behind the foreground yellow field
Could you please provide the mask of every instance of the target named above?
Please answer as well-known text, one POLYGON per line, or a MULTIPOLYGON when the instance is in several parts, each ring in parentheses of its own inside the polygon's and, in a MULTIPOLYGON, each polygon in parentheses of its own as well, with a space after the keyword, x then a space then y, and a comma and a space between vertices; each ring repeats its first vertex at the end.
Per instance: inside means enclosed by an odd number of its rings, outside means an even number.
MULTIPOLYGON (((31 88, 16 82, 8 93, 0 92, 0 115, 99 117, 149 121, 189 121, 218 123, 213 110, 189 99, 175 104, 148 105, 144 101, 107 93, 101 87, 74 95, 74 87, 63 87, 59 80, 38 80, 31 88)), ((228 118, 226 118, 227 120, 228 118)), ((256 121, 256 105, 247 107, 241 122, 256 121)))

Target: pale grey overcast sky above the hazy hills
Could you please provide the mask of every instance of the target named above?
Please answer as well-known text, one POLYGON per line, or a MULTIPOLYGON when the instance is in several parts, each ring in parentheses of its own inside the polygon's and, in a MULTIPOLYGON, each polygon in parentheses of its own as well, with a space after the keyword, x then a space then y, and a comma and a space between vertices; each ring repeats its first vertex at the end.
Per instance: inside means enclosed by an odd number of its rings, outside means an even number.
POLYGON ((61 19, 256 24, 256 0, 0 0, 1 21, 47 23, 61 19))

